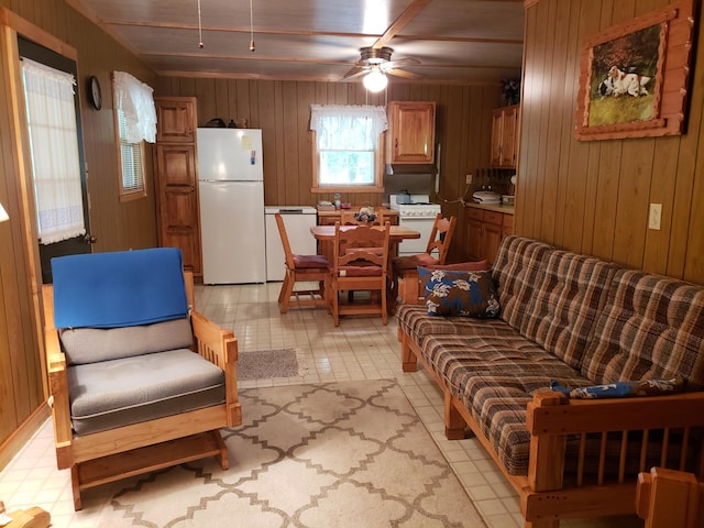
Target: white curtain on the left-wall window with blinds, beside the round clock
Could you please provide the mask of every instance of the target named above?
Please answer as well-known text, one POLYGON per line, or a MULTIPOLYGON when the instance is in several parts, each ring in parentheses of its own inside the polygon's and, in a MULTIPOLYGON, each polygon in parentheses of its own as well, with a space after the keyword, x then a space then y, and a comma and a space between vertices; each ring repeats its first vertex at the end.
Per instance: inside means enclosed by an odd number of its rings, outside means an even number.
POLYGON ((130 143, 156 142, 154 90, 125 72, 113 72, 116 108, 124 113, 127 140, 130 143))

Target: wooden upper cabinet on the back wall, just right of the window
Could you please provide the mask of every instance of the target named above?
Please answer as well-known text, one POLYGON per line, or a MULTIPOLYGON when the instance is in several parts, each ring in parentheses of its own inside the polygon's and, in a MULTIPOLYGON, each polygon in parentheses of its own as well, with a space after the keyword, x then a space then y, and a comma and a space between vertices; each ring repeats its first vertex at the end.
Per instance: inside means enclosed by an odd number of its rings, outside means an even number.
POLYGON ((392 101, 388 111, 386 163, 435 163, 435 101, 392 101))

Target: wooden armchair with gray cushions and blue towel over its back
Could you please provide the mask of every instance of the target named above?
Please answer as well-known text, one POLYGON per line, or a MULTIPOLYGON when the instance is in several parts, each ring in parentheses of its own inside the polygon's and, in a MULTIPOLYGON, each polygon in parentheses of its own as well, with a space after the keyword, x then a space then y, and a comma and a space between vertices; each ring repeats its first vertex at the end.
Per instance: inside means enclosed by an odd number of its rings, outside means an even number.
POLYGON ((216 455, 228 469, 219 429, 242 422, 238 342, 195 311, 180 251, 70 255, 52 271, 50 405, 75 508, 82 490, 183 462, 216 455))

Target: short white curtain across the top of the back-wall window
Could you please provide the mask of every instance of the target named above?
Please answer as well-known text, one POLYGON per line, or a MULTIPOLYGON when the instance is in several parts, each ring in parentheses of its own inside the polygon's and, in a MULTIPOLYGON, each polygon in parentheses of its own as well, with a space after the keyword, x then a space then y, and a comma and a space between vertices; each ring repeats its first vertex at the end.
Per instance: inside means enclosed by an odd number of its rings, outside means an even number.
POLYGON ((384 107, 310 106, 310 130, 319 150, 373 150, 387 127, 384 107))

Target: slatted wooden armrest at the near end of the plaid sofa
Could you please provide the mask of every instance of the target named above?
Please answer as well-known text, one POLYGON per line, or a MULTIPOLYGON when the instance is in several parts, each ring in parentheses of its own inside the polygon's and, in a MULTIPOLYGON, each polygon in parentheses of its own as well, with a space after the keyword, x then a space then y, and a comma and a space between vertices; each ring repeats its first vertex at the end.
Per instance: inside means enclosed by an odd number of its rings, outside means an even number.
MULTIPOLYGON (((526 427, 530 432, 528 490, 521 509, 527 520, 535 520, 547 510, 552 514, 579 516, 590 513, 590 504, 571 501, 569 493, 557 493, 564 484, 568 437, 579 441, 575 484, 585 485, 587 475, 587 435, 596 435, 601 442, 596 465, 596 486, 618 485, 600 503, 600 515, 623 513, 624 504, 632 503, 636 474, 628 461, 636 461, 646 471, 645 453, 653 446, 661 461, 678 460, 683 464, 688 451, 701 440, 692 436, 693 428, 704 427, 704 393, 684 393, 667 396, 647 396, 615 399, 570 399, 554 392, 539 392, 528 404, 526 427), (672 430, 681 435, 675 440, 672 430), (659 440, 651 442, 662 431, 659 440), (620 435, 620 448, 608 453, 607 433, 620 435), (636 438, 638 452, 629 450, 628 439, 636 438), (672 439, 672 441, 670 441, 672 439), (673 452, 676 450, 676 453, 673 452), (630 471, 630 472, 629 472, 630 471), (609 476, 610 475, 610 476, 609 476), (551 501, 552 499, 552 501, 551 501), (549 508, 546 509, 546 504, 549 508)), ((574 463, 574 461, 573 461, 574 463)), ((701 468, 702 462, 700 460, 701 468)))

